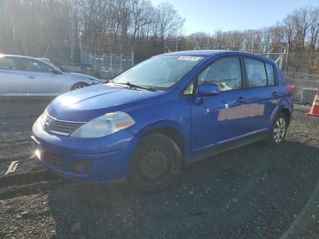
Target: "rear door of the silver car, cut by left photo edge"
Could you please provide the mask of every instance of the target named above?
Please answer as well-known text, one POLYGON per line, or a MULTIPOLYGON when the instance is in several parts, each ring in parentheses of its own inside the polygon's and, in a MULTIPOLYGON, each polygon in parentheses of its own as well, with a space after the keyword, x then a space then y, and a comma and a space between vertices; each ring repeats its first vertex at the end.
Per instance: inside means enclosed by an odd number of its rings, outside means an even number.
POLYGON ((25 95, 25 77, 15 57, 0 57, 0 95, 25 95))

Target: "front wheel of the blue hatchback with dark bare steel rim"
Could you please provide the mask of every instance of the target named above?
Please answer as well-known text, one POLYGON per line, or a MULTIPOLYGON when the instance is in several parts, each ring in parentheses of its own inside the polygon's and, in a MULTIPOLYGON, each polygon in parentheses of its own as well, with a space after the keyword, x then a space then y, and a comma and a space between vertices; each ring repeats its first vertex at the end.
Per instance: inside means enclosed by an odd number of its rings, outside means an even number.
POLYGON ((161 133, 151 133, 138 143, 129 166, 128 184, 140 193, 160 192, 172 186, 182 168, 177 144, 161 133))

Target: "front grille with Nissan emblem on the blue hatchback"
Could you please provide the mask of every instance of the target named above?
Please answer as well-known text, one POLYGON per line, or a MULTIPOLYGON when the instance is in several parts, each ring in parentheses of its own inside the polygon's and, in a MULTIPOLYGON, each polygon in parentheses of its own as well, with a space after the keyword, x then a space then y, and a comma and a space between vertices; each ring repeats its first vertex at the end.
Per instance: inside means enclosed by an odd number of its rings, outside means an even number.
POLYGON ((70 135, 70 133, 85 123, 54 119, 46 111, 43 113, 41 120, 45 131, 60 135, 70 135))

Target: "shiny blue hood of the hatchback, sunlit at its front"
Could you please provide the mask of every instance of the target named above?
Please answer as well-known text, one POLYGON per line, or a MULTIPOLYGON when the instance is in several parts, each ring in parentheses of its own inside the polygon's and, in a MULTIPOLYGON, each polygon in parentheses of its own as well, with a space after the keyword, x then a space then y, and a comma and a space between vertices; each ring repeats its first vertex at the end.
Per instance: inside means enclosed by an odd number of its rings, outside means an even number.
POLYGON ((58 96, 48 106, 47 113, 56 119, 87 122, 106 113, 151 105, 160 95, 99 84, 58 96))

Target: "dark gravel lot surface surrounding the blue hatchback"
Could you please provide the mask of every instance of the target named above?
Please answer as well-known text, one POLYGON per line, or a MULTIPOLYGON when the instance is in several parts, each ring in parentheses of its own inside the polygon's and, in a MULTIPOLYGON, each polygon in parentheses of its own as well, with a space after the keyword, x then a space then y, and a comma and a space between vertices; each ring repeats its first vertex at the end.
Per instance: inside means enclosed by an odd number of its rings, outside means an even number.
MULTIPOLYGON (((18 173, 43 169, 27 142, 47 103, 7 105, 9 113, 0 107, 1 175, 12 160, 18 173)), ((197 162, 162 193, 63 179, 4 187, 0 238, 317 239, 319 117, 309 110, 295 104, 282 148, 255 143, 197 162)))

